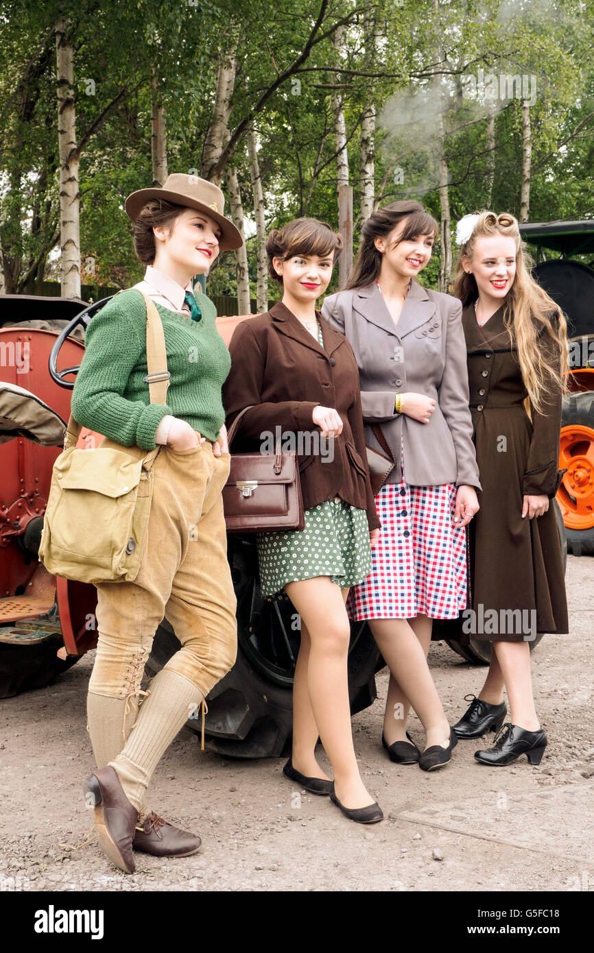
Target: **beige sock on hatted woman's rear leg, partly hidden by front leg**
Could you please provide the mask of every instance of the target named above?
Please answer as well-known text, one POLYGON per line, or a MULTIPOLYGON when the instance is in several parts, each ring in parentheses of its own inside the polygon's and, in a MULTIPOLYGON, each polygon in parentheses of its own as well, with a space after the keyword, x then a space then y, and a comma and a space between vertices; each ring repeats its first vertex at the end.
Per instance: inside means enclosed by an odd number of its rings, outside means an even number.
MULTIPOLYGON (((106 767, 113 758, 117 758, 124 747, 136 720, 139 697, 132 696, 124 717, 125 699, 96 695, 94 692, 88 693, 87 721, 92 753, 98 768, 106 767)), ((146 801, 142 801, 138 808, 138 821, 144 821, 150 813, 151 808, 146 801)))

